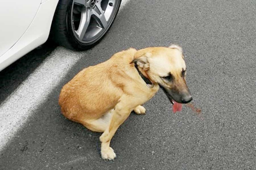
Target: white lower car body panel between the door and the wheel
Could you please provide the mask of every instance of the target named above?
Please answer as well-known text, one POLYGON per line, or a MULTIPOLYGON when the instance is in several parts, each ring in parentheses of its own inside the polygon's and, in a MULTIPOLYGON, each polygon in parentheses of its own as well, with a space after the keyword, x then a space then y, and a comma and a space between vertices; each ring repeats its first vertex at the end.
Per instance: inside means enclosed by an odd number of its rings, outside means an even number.
MULTIPOLYGON (((34 0, 33 0, 34 1, 34 0)), ((0 56, 0 71, 34 48, 45 43, 50 33, 54 12, 59 0, 47 0, 41 3, 39 9, 20 39, 2 56, 0 56)))

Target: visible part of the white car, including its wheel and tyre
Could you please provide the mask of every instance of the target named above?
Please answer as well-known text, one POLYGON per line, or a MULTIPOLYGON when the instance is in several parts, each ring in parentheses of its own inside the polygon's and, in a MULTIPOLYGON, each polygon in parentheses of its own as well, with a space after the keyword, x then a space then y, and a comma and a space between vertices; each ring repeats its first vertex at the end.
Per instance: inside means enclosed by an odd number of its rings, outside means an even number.
POLYGON ((0 71, 48 37, 72 50, 95 46, 120 4, 121 0, 1 0, 0 71))

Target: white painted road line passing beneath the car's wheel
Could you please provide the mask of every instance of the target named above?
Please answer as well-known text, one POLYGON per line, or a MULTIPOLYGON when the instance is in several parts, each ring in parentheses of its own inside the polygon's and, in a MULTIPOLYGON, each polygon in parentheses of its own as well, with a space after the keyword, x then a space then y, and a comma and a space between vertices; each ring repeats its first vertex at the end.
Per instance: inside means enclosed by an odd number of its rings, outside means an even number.
MULTIPOLYGON (((129 0, 123 0, 120 10, 129 0)), ((84 56, 58 47, 46 60, 0 104, 0 152, 22 128, 34 111, 44 103, 68 71, 84 56), (68 56, 68 57, 67 57, 68 56)))

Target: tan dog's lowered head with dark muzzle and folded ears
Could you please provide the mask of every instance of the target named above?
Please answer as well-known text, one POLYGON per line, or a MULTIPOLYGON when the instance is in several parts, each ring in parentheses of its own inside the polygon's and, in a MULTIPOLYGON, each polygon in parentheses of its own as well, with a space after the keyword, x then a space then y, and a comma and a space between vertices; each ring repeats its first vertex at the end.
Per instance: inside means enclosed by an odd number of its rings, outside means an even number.
POLYGON ((181 47, 151 47, 139 50, 133 63, 137 63, 144 76, 159 84, 173 103, 188 103, 192 100, 186 83, 186 64, 181 47))

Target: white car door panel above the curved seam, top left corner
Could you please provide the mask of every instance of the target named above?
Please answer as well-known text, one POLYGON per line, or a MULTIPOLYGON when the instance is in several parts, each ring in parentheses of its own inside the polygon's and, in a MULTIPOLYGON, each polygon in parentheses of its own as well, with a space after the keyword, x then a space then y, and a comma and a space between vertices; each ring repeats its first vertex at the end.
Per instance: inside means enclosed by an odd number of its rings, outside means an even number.
POLYGON ((42 0, 1 0, 0 56, 26 32, 42 0))

